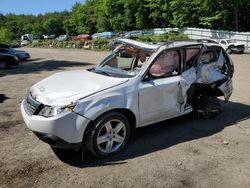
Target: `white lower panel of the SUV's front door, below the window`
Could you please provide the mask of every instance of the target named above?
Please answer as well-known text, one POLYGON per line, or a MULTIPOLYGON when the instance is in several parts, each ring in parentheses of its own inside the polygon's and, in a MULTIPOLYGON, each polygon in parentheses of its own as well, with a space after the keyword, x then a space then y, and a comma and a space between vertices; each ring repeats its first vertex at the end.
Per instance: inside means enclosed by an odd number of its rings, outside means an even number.
POLYGON ((146 125, 180 113, 178 95, 181 76, 141 82, 139 90, 140 124, 146 125))

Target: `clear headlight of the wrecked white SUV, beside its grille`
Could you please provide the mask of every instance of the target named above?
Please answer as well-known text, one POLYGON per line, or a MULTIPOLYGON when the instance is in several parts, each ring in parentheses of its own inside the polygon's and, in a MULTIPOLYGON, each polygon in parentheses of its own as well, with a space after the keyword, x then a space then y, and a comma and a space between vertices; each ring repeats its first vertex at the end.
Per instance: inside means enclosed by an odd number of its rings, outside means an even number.
POLYGON ((72 103, 65 107, 44 106, 38 115, 43 117, 53 117, 64 111, 72 112, 75 106, 76 106, 75 103, 72 103))

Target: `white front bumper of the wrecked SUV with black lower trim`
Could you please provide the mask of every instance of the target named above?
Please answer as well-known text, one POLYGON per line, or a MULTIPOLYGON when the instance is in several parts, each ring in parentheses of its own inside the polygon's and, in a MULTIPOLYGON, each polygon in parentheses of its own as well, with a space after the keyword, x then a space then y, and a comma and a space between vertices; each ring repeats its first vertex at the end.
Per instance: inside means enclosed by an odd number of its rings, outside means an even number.
POLYGON ((29 129, 41 140, 58 148, 80 147, 84 131, 90 121, 74 112, 62 112, 49 118, 29 115, 25 100, 21 103, 21 114, 29 129))

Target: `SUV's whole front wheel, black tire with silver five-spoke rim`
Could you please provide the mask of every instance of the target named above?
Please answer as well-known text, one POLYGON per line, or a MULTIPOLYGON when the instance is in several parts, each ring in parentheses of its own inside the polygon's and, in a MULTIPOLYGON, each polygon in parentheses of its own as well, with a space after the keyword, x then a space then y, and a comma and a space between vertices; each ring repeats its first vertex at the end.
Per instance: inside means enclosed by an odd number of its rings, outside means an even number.
POLYGON ((87 137, 87 148, 104 158, 122 151, 130 136, 128 119, 118 112, 108 112, 97 118, 87 137))

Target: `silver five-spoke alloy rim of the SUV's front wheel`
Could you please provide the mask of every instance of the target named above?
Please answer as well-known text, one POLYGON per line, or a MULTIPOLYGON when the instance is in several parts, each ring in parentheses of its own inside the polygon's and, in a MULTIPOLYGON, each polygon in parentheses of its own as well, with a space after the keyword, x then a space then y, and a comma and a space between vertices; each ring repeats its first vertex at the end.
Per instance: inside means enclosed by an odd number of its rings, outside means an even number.
POLYGON ((97 135, 97 146, 104 153, 117 151, 126 137, 125 124, 120 120, 105 123, 97 135))

